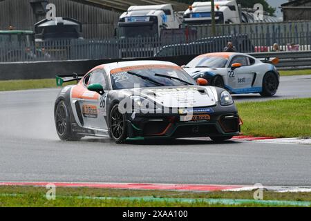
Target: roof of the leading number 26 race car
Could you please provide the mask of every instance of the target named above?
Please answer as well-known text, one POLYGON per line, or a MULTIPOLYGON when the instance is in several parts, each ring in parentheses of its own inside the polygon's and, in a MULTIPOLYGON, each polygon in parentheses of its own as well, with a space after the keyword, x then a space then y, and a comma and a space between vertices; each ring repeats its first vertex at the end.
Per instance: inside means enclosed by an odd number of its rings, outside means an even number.
MULTIPOLYGON (((100 66, 96 66, 92 70, 98 68, 104 68, 108 73, 111 73, 111 70, 115 70, 118 68, 128 68, 133 66, 154 66, 154 65, 164 65, 164 66, 176 66, 179 67, 177 64, 173 64, 168 61, 121 61, 121 62, 113 62, 109 64, 102 64, 100 66)), ((91 70, 91 71, 92 71, 91 70)))

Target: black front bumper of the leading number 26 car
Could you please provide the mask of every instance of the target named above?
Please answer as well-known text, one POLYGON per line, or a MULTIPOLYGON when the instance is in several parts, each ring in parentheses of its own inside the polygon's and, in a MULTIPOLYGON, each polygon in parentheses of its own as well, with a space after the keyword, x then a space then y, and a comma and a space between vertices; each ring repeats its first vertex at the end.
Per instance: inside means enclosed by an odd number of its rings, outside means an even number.
POLYGON ((181 137, 234 136, 240 133, 240 117, 234 105, 222 107, 209 120, 182 121, 179 114, 136 114, 127 117, 129 140, 181 137))

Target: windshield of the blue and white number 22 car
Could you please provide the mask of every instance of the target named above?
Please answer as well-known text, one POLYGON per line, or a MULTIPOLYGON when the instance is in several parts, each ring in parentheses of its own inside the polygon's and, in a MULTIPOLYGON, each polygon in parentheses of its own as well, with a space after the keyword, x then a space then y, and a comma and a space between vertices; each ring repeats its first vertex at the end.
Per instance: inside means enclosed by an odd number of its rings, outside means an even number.
POLYGON ((225 68, 225 57, 196 57, 185 68, 225 68))

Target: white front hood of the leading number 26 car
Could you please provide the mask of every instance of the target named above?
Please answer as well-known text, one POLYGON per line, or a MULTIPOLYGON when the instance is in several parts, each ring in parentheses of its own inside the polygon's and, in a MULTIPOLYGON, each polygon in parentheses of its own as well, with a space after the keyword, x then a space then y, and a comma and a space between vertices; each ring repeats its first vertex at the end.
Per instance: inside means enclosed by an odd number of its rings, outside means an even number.
POLYGON ((131 95, 147 98, 168 108, 215 106, 217 91, 212 86, 167 86, 133 88, 131 95))

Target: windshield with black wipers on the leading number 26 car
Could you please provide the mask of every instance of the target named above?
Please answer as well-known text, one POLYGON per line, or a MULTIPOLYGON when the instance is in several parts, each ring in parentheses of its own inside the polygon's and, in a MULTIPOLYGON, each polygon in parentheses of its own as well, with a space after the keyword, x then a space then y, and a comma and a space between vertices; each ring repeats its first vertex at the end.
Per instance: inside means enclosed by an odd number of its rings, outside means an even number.
POLYGON ((157 86, 195 85, 184 70, 179 67, 156 68, 123 68, 120 71, 111 71, 113 89, 148 88, 157 86))

